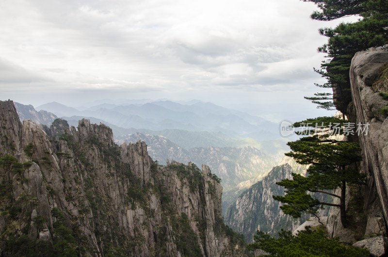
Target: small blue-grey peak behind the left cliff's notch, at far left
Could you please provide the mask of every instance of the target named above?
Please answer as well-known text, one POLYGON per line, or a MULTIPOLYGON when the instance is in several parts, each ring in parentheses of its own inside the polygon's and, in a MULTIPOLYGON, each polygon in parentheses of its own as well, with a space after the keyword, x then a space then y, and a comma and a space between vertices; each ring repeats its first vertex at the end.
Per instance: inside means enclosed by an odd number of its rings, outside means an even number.
POLYGON ((54 113, 47 111, 37 112, 32 105, 24 105, 21 103, 14 103, 16 107, 17 114, 19 119, 23 120, 32 120, 36 124, 43 124, 46 126, 51 126, 51 123, 58 118, 54 113))

